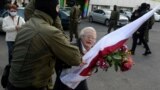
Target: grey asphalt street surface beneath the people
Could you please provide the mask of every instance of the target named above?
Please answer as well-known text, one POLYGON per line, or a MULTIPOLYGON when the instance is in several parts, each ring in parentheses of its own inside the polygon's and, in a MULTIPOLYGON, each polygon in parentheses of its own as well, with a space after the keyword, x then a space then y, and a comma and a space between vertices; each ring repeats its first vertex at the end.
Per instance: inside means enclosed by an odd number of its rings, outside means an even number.
MULTIPOLYGON (((97 30, 99 40, 107 32, 107 26, 99 23, 89 23, 88 20, 82 20, 79 24, 79 30, 83 27, 92 26, 97 30)), ((89 90, 160 90, 160 22, 156 22, 150 30, 149 46, 152 54, 143 56, 145 49, 143 46, 137 46, 133 60, 135 65, 130 71, 114 71, 110 68, 107 72, 99 69, 87 79, 89 90)), ((68 34, 68 31, 65 31, 68 34)), ((106 42, 107 43, 107 42, 106 42)), ((131 48, 132 39, 127 42, 131 48)), ((0 35, 0 78, 5 65, 8 63, 7 46, 5 36, 0 35)), ((53 76, 55 78, 55 76, 53 76)), ((54 79, 53 78, 53 79, 54 79)), ((4 90, 0 85, 0 90, 4 90)))

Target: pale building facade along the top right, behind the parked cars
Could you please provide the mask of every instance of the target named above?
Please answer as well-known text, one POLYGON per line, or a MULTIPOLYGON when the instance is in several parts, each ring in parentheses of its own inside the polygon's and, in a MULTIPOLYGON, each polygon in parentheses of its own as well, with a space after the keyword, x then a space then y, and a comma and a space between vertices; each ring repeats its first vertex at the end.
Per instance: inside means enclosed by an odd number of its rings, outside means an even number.
POLYGON ((149 3, 151 8, 160 5, 160 0, 90 0, 88 11, 98 8, 107 8, 112 10, 114 5, 117 5, 119 9, 128 9, 133 11, 144 2, 149 3))

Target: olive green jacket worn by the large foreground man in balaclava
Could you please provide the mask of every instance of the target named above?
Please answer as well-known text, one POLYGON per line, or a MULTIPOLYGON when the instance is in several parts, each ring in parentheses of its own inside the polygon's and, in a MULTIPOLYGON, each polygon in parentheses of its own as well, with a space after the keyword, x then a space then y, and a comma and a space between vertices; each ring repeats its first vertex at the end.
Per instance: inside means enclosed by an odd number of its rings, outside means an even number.
POLYGON ((9 75, 14 86, 47 86, 58 59, 71 66, 81 63, 79 49, 52 23, 49 15, 36 10, 18 32, 9 75))

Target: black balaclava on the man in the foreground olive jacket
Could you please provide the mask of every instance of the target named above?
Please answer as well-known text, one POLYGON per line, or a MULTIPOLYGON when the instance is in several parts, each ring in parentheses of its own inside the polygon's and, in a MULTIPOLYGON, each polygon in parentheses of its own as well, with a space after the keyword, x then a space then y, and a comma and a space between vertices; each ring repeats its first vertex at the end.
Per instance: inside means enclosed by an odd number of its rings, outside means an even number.
POLYGON ((55 20, 58 16, 58 12, 56 11, 57 5, 58 0, 36 0, 35 9, 47 13, 55 20))

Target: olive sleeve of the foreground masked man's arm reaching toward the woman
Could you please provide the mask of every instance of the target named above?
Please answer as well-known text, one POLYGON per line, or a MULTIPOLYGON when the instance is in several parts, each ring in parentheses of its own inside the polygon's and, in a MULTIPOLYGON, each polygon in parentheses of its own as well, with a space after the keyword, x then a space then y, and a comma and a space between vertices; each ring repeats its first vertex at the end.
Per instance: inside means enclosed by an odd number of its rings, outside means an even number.
POLYGON ((53 54, 66 64, 78 66, 82 62, 82 56, 78 47, 70 44, 61 30, 50 30, 46 42, 53 54))

